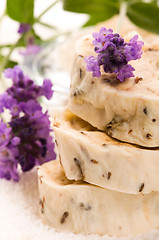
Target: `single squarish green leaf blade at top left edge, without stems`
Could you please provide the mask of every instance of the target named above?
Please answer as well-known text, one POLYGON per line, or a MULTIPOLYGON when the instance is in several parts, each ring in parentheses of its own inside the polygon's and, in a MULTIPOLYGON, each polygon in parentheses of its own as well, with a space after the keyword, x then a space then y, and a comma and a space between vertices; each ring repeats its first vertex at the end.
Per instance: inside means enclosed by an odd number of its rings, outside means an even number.
POLYGON ((21 23, 33 23, 34 0, 7 0, 7 14, 21 23))

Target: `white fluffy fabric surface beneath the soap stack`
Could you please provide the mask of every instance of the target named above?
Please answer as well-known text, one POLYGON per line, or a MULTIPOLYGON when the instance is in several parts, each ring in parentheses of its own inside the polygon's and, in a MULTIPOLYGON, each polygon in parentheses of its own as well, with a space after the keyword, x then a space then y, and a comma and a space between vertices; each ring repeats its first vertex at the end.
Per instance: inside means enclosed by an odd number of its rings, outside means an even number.
MULTIPOLYGON (((108 236, 83 236, 56 232, 40 220, 36 168, 19 183, 0 180, 0 240, 117 240, 108 236)), ((159 231, 121 240, 157 240, 159 231)))

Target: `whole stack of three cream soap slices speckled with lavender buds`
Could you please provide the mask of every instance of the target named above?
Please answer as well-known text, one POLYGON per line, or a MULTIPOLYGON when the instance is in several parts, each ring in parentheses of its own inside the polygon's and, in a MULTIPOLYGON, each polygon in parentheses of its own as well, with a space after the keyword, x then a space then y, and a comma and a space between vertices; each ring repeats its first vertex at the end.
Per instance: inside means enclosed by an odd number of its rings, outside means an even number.
POLYGON ((146 47, 120 83, 86 72, 93 48, 78 42, 69 110, 53 114, 59 161, 39 169, 41 215, 62 231, 145 233, 159 228, 159 51, 146 47))

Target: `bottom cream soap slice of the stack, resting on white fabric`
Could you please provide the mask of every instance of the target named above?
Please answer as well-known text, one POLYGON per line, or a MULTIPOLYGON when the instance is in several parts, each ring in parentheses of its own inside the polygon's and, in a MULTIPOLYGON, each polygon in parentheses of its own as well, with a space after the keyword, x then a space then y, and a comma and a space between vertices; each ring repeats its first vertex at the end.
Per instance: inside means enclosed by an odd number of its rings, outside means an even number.
POLYGON ((61 231, 112 236, 159 227, 159 193, 131 195, 69 181, 59 162, 38 170, 41 216, 61 231))

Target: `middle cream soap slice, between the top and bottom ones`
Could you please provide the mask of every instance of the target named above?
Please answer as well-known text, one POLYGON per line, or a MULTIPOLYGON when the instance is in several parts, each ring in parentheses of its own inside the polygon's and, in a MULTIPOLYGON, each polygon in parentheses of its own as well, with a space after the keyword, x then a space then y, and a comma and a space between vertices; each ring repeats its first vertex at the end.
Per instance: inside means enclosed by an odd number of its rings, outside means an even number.
POLYGON ((159 149, 116 141, 63 109, 53 124, 67 178, 131 194, 159 191, 159 149))

